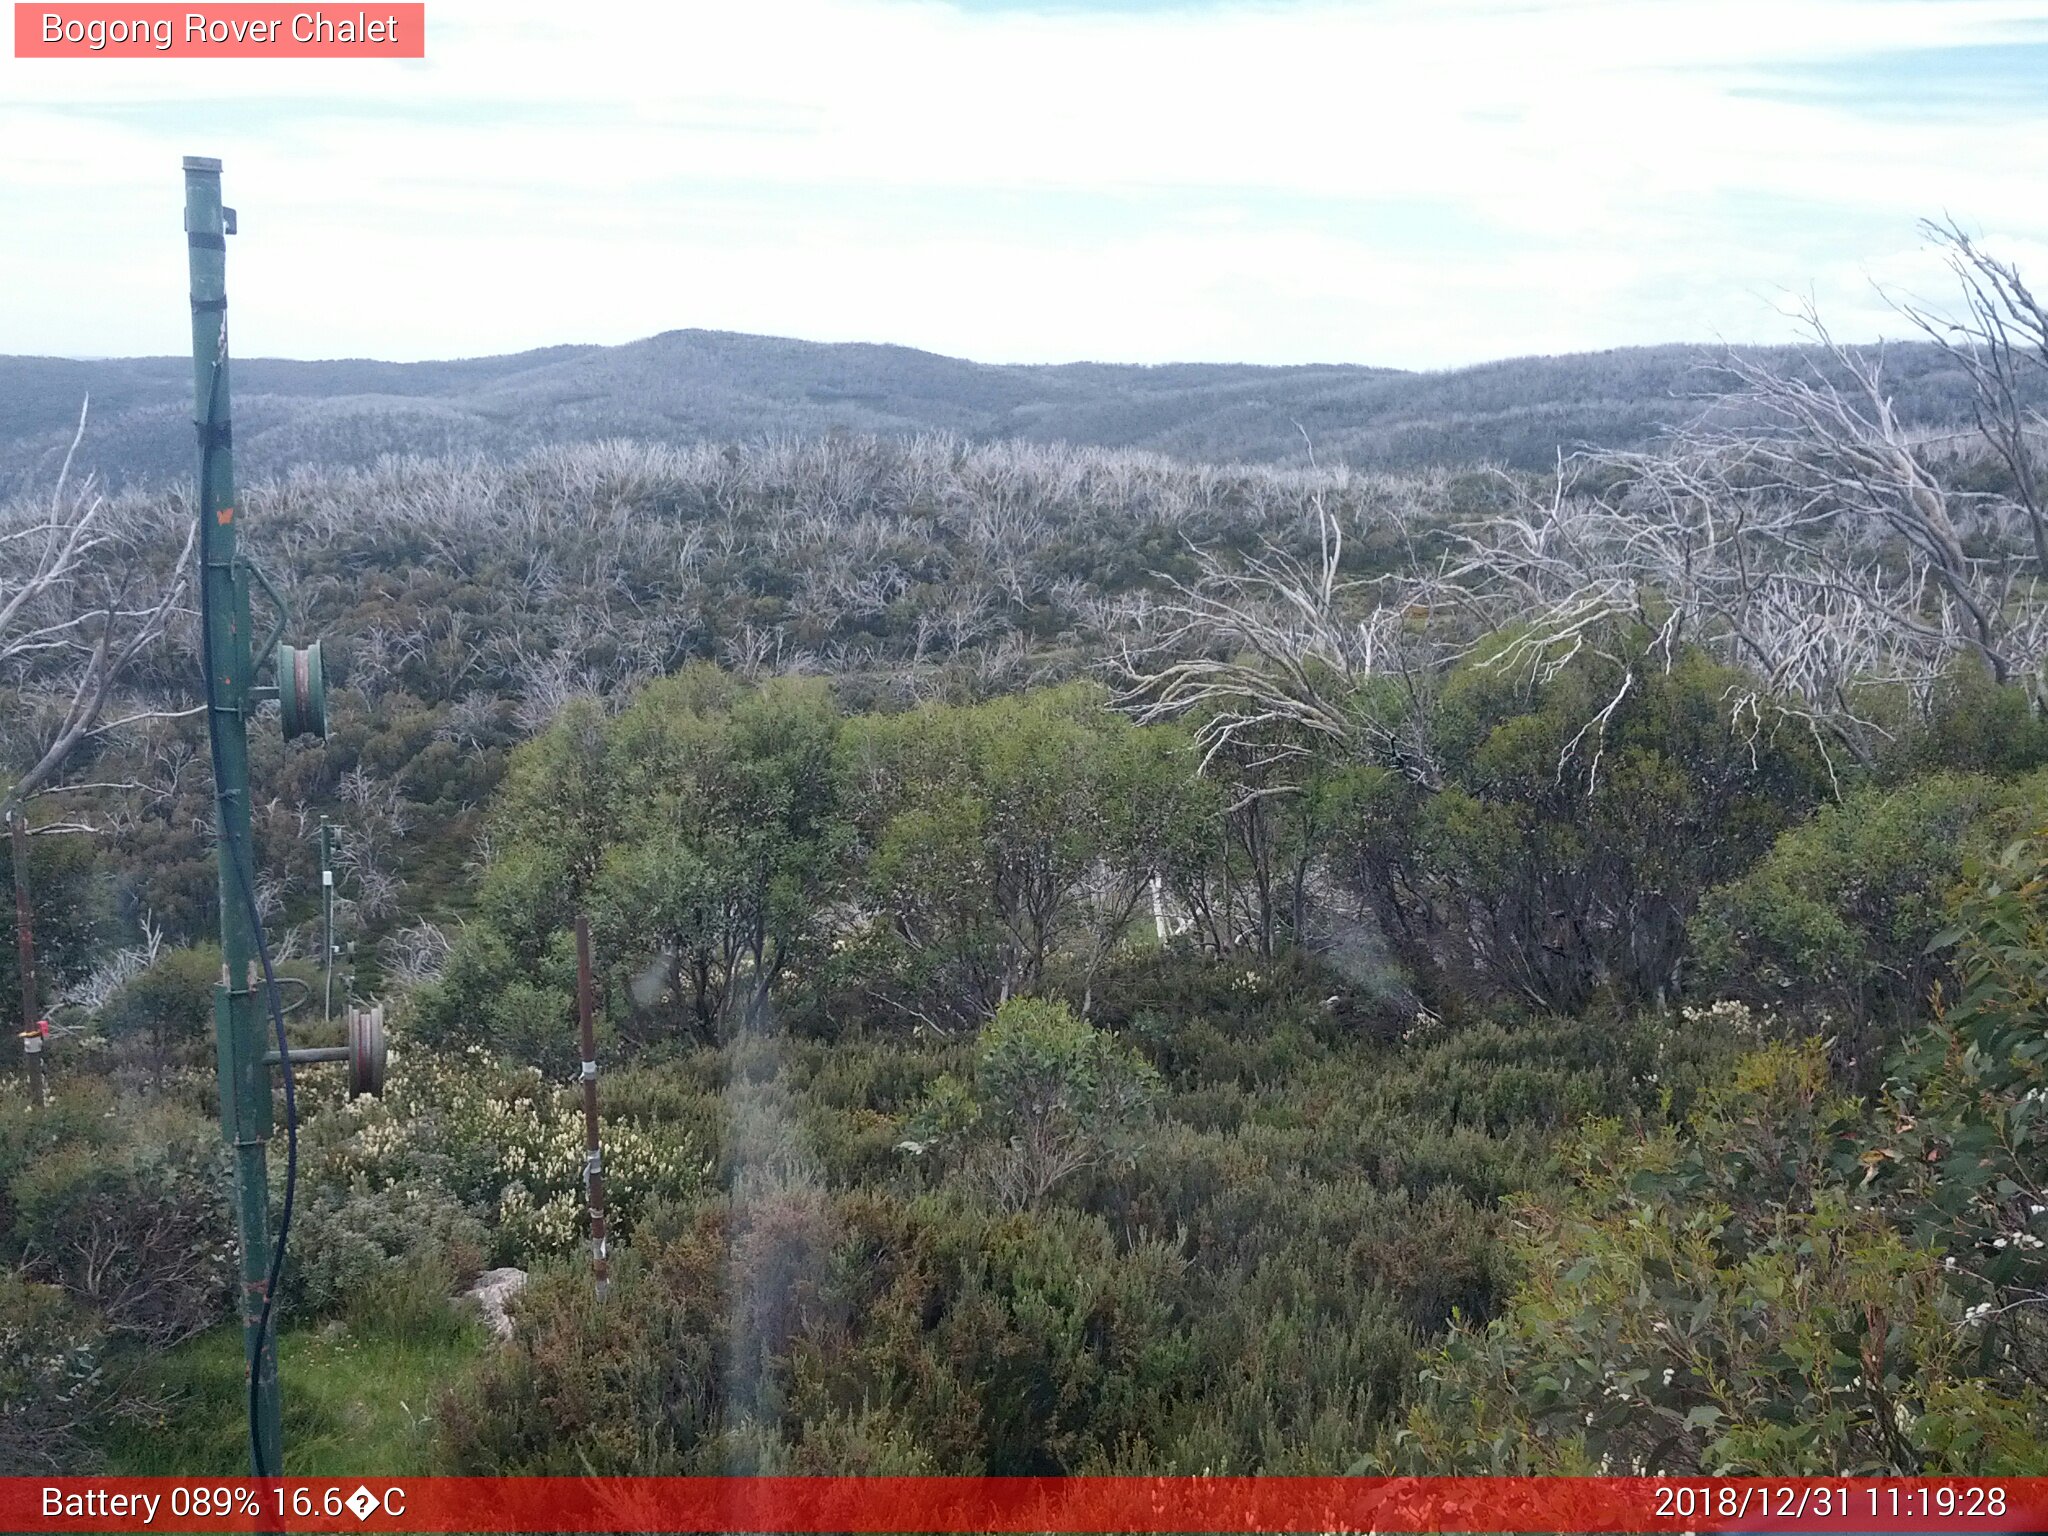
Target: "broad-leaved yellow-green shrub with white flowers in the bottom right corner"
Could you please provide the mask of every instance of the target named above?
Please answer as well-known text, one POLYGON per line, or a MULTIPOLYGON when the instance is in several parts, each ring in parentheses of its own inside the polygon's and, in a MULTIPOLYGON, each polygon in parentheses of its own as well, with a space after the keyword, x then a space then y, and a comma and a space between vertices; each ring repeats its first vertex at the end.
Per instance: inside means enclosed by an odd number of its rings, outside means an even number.
POLYGON ((1376 1464, 2038 1475, 2048 1468, 2048 838, 1972 856, 1960 995, 1884 1104, 1819 1042, 1683 1130, 1593 1128, 1520 1212, 1505 1317, 1460 1331, 1376 1464))

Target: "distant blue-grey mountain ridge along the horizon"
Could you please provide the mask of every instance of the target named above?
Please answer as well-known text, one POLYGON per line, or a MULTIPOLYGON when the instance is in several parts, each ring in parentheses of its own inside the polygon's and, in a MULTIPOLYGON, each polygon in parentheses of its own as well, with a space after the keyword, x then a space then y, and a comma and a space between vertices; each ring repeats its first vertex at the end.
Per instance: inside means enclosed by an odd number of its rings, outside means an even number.
MULTIPOLYGON (((1307 457, 1370 469, 1505 463, 1561 446, 1636 446, 1692 412, 1712 348, 1509 358, 1448 373, 1358 365, 987 365, 866 342, 672 330, 625 346, 549 346, 449 362, 238 358, 242 473, 381 455, 508 455, 543 442, 745 440, 762 434, 952 432, 1151 449, 1212 463, 1307 457), (1307 438, 1307 442, 1305 442, 1307 438)), ((1790 350, 1784 352, 1792 356, 1790 350)), ((1886 352, 1909 422, 1968 410, 1927 344, 1886 352)), ((109 483, 193 467, 188 358, 0 356, 0 489, 47 485, 80 399, 84 469, 109 483)))

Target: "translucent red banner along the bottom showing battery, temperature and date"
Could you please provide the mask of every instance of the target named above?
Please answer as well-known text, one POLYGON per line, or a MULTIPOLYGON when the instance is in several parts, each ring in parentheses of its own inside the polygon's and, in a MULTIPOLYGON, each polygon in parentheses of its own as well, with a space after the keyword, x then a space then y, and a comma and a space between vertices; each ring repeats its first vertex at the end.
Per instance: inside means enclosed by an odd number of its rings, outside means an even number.
POLYGON ((6 1532, 2042 1532, 2048 1479, 0 1479, 6 1532))

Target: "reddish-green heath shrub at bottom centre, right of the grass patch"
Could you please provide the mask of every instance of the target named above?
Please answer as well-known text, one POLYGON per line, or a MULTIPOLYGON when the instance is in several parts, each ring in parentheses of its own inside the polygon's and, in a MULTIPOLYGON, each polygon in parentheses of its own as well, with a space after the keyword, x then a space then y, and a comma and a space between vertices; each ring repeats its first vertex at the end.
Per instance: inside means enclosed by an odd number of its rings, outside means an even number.
POLYGON ((582 1278, 537 1282, 514 1343, 444 1413, 451 1458, 1108 1470, 1171 1421, 1188 1300, 1186 1260, 1077 1212, 770 1190, 678 1212, 623 1257, 604 1307, 582 1278))

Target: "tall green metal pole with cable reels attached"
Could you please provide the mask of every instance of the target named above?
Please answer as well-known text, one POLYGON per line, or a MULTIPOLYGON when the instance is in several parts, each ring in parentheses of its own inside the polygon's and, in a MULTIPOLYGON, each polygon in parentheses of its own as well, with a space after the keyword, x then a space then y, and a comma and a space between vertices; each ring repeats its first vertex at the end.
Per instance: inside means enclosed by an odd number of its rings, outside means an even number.
POLYGON ((254 668, 250 655, 248 575, 236 559, 236 465, 227 410, 227 215, 221 209, 221 162, 184 160, 184 236, 193 266, 193 397, 201 432, 199 530, 201 580, 207 600, 207 711, 213 739, 217 850, 221 866, 221 981, 213 991, 213 1032, 219 1047, 221 1130, 236 1149, 236 1219, 242 1233, 242 1343, 256 1382, 250 1423, 250 1470, 283 1473, 283 1432, 276 1399, 276 1348, 260 1327, 270 1278, 270 1069, 256 1012, 256 932, 250 924, 242 870, 250 848, 248 715, 254 668))

